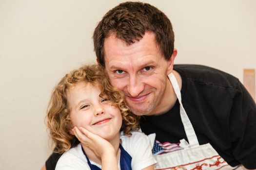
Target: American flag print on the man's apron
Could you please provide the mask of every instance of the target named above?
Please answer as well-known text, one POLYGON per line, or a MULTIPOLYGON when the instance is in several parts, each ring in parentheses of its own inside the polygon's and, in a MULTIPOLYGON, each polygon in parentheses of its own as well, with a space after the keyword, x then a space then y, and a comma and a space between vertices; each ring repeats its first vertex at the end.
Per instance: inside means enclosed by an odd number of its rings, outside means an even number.
POLYGON ((152 153, 153 155, 158 155, 158 154, 170 153, 170 152, 182 150, 183 148, 181 148, 178 144, 179 143, 170 143, 170 142, 161 143, 158 140, 155 140, 152 153))

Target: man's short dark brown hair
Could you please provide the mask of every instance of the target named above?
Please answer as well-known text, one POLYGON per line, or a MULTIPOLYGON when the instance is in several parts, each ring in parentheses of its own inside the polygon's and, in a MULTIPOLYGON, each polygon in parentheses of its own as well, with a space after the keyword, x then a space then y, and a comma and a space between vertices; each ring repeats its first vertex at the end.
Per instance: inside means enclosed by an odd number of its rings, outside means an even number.
POLYGON ((99 21, 93 35, 94 50, 100 65, 105 67, 104 41, 114 35, 127 45, 139 41, 145 32, 153 32, 165 59, 174 50, 174 32, 171 21, 158 8, 142 2, 124 2, 111 9, 99 21))

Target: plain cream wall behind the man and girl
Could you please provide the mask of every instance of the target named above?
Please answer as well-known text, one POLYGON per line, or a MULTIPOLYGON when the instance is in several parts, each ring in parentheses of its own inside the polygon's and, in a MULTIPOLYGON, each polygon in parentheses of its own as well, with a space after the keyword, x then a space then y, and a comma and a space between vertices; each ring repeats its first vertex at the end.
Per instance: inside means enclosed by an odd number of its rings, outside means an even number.
MULTIPOLYGON (((92 34, 123 0, 0 0, 0 169, 39 169, 51 151, 44 125, 53 87, 95 63, 92 34)), ((176 63, 256 68, 256 0, 145 0, 173 23, 176 63)))

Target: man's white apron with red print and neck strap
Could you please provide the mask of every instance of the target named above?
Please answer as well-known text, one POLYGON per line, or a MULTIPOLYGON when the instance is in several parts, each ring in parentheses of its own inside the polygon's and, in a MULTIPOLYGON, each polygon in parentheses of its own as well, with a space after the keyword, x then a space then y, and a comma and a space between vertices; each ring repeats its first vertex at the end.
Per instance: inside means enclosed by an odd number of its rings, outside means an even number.
POLYGON ((158 163, 155 170, 242 170, 242 167, 231 167, 214 150, 210 143, 199 145, 194 128, 181 103, 181 94, 173 73, 169 75, 171 84, 180 104, 180 117, 185 129, 188 142, 180 140, 183 150, 155 155, 158 163))

